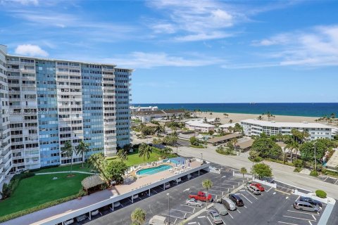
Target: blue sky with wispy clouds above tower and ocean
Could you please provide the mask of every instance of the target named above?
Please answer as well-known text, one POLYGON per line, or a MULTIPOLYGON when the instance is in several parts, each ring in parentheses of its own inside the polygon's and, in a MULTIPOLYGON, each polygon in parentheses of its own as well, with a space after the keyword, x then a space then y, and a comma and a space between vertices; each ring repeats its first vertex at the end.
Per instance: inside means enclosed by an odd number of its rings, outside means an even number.
POLYGON ((132 68, 132 103, 338 102, 337 9, 325 0, 0 0, 0 44, 132 68))

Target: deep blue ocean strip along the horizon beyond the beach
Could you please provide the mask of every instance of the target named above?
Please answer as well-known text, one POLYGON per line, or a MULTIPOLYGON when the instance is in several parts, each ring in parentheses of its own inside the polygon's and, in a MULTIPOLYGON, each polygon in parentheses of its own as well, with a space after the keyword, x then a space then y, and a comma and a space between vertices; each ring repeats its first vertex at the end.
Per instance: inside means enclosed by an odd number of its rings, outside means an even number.
POLYGON ((185 109, 210 111, 215 113, 246 113, 323 117, 335 113, 338 117, 338 103, 159 103, 132 104, 134 106, 154 106, 160 109, 185 109))

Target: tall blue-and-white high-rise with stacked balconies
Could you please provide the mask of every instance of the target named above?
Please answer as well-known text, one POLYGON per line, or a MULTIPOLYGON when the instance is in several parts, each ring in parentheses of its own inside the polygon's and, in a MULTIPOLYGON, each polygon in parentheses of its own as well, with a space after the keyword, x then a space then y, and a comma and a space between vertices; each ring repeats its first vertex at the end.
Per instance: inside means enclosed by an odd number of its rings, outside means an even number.
POLYGON ((9 172, 70 163, 65 141, 89 143, 85 158, 130 143, 131 75, 111 64, 10 56, 0 45, 0 182, 9 172))

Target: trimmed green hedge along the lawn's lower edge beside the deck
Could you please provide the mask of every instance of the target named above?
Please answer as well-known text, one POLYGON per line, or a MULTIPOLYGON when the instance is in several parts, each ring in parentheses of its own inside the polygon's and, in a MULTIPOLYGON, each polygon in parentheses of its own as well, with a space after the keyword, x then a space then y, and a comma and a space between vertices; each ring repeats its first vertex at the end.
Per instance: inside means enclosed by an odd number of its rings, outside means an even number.
POLYGON ((8 220, 11 220, 11 219, 15 219, 15 218, 18 218, 18 217, 23 217, 26 214, 30 214, 32 212, 37 212, 39 210, 44 210, 48 207, 52 207, 54 205, 65 203, 65 202, 68 202, 70 200, 74 200, 75 198, 82 197, 84 195, 86 195, 86 193, 82 192, 80 190, 79 193, 77 193, 76 195, 70 195, 68 197, 60 198, 60 199, 57 199, 57 200, 54 200, 54 201, 51 201, 51 202, 48 202, 48 203, 44 203, 42 205, 37 205, 37 206, 31 207, 27 210, 21 210, 19 212, 13 212, 13 213, 8 214, 6 216, 0 217, 0 223, 3 223, 4 221, 8 221, 8 220))

